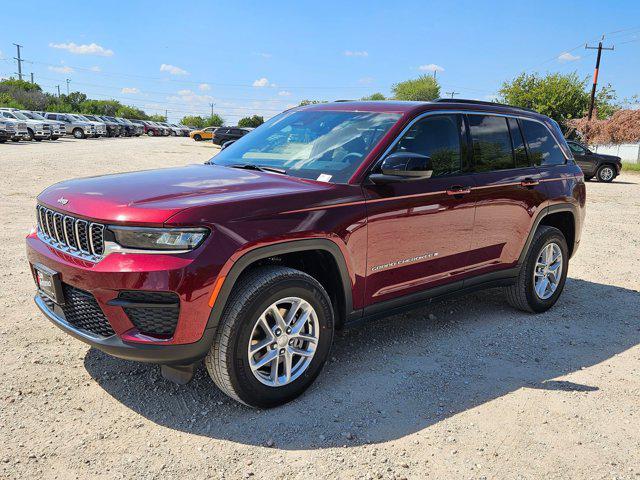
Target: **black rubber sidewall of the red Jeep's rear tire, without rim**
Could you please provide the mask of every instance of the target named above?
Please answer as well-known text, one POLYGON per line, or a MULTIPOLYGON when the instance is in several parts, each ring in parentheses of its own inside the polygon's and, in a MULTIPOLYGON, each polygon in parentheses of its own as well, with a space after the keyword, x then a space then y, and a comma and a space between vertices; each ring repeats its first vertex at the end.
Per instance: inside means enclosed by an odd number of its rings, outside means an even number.
POLYGON ((531 245, 529 258, 527 258, 527 264, 525 266, 526 275, 526 296, 529 306, 534 312, 540 313, 550 309, 557 301, 564 289, 564 284, 567 280, 567 272, 569 270, 569 249, 567 248, 567 241, 560 230, 556 228, 548 228, 544 234, 540 235, 531 245), (556 243, 562 252, 562 274, 560 276, 560 283, 546 300, 541 299, 535 292, 535 282, 533 279, 533 272, 535 269, 536 261, 542 249, 549 243, 556 243))

